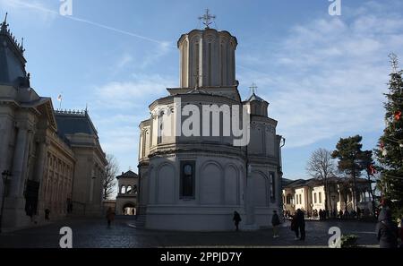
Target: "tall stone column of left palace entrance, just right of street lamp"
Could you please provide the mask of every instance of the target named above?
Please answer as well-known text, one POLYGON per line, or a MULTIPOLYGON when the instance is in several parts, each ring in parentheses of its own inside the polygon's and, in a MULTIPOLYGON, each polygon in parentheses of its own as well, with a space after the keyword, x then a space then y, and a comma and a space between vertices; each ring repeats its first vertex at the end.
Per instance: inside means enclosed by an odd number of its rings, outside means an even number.
POLYGON ((17 139, 13 157, 13 176, 10 195, 19 197, 21 195, 21 184, 23 183, 24 161, 28 153, 27 144, 29 143, 28 129, 20 126, 18 128, 17 139))

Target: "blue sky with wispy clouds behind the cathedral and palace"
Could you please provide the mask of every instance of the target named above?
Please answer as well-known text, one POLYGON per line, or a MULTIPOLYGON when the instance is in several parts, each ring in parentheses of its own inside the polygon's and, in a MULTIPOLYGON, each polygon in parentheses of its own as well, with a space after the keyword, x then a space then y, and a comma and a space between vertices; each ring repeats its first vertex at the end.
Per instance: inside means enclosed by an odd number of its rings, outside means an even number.
POLYGON ((373 149, 383 127, 388 54, 403 56, 403 2, 342 0, 192 1, 0 0, 14 35, 24 38, 31 86, 41 96, 63 92, 63 108, 84 109, 101 145, 121 170, 137 167, 138 125, 153 99, 179 83, 176 41, 201 29, 206 7, 214 28, 238 39, 236 79, 243 98, 255 82, 287 139, 285 177, 305 178, 313 150, 333 150, 361 134, 373 149))

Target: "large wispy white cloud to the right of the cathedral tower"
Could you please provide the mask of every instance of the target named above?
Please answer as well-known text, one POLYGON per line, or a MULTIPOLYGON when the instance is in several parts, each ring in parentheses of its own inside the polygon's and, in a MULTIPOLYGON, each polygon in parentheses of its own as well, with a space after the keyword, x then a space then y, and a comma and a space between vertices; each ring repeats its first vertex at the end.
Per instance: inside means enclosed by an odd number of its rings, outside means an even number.
MULTIPOLYGON (((243 67, 238 77, 245 85, 259 85, 287 148, 349 132, 381 133, 388 54, 403 56, 402 44, 401 13, 386 13, 370 2, 348 18, 327 16, 293 27, 258 72, 243 67)), ((256 57, 246 56, 241 64, 256 57)))

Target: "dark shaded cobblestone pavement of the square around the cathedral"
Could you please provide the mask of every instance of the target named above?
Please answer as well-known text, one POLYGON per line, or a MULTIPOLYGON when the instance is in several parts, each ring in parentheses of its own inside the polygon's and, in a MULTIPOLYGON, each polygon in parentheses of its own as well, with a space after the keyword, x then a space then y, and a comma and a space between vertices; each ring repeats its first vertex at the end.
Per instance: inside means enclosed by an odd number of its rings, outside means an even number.
POLYGON ((254 232, 171 232, 131 227, 133 219, 117 218, 111 228, 104 219, 68 219, 53 224, 0 235, 3 248, 57 248, 61 227, 73 229, 73 247, 327 247, 328 230, 340 227, 343 235, 359 236, 358 245, 378 247, 375 224, 359 221, 307 221, 305 241, 294 240, 286 221, 279 238, 271 229, 254 232))

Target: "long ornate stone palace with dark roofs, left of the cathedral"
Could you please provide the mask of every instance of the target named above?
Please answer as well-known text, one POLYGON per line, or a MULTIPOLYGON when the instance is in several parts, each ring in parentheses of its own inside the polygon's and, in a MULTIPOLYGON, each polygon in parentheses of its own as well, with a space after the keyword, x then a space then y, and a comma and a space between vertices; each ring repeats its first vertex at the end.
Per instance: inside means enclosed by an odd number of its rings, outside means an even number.
POLYGON ((100 215, 107 160, 87 111, 55 111, 30 87, 24 48, 0 29, 1 227, 100 215))

